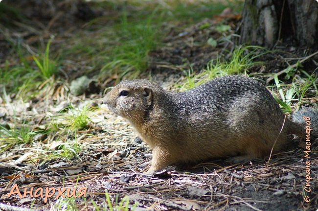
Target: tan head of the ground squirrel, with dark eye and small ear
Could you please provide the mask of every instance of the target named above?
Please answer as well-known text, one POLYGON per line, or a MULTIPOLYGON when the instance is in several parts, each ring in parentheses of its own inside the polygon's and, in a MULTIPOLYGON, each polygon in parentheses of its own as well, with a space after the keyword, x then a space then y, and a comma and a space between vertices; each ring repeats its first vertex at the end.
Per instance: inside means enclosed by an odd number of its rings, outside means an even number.
POLYGON ((158 89, 162 88, 149 80, 125 80, 106 94, 104 103, 115 114, 140 122, 149 115, 153 107, 153 91, 158 89))

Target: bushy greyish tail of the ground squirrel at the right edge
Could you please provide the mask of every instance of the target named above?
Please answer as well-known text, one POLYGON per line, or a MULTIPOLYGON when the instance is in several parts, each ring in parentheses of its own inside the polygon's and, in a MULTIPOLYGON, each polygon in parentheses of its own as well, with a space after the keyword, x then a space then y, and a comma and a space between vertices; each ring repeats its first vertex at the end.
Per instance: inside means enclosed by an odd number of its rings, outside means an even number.
POLYGON ((303 108, 296 112, 289 121, 289 129, 290 133, 303 138, 318 138, 318 110, 303 108))

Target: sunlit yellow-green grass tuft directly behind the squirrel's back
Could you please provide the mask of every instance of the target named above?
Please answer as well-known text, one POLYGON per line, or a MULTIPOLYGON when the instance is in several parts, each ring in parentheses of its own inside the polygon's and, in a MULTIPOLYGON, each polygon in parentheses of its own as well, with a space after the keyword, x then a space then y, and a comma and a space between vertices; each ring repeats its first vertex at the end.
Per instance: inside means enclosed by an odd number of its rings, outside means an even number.
POLYGON ((269 51, 265 48, 257 46, 236 47, 229 61, 218 57, 218 59, 208 62, 206 69, 199 74, 193 74, 189 71, 186 82, 179 85, 179 87, 182 91, 185 91, 204 84, 216 77, 247 73, 250 67, 262 64, 261 62, 255 61, 255 59, 268 52, 269 51))

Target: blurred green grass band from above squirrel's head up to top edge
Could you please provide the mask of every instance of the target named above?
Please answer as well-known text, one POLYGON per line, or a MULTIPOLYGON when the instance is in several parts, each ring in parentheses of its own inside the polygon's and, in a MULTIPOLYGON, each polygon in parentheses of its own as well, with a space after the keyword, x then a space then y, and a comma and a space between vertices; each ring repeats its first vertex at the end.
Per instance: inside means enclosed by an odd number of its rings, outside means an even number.
MULTIPOLYGON (((62 57, 72 57, 89 64, 86 73, 99 71, 99 79, 121 80, 140 77, 149 70, 149 52, 164 45, 163 38, 176 26, 182 30, 189 23, 212 18, 227 7, 238 11, 240 3, 223 1, 124 1, 96 3, 113 7, 113 17, 98 17, 85 25, 61 50, 62 57), (110 24, 111 23, 111 24, 110 24)), ((177 31, 178 31, 177 30, 177 31)))

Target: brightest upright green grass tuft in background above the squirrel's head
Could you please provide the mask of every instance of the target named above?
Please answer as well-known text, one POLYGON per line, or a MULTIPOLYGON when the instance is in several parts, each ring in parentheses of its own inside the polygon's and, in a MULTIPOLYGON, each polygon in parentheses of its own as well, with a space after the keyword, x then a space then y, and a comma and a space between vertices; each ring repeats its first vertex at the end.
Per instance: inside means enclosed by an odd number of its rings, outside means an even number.
MULTIPOLYGON (((101 69, 101 75, 118 74, 119 77, 128 75, 132 78, 148 68, 148 53, 154 50, 160 40, 160 17, 153 12, 146 20, 129 21, 124 13, 115 36, 117 46, 108 51, 109 62, 101 69), (154 23, 156 15, 156 24, 154 23)), ((107 53, 107 52, 103 52, 107 53)))

